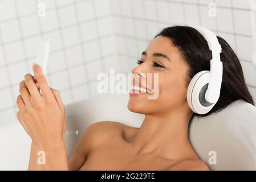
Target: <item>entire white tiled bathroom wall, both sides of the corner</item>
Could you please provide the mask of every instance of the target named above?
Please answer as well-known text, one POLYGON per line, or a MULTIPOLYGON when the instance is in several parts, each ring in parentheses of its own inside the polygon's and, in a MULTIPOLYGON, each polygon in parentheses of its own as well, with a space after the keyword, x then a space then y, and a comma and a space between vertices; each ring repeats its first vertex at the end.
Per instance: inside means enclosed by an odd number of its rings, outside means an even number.
POLYGON ((39 38, 50 41, 47 80, 64 104, 95 96, 98 73, 131 73, 153 36, 174 24, 225 38, 255 98, 249 13, 245 0, 0 0, 0 125, 17 122, 18 84, 33 75, 39 38), (37 15, 39 3, 46 16, 37 15), (216 16, 209 16, 210 3, 216 16))

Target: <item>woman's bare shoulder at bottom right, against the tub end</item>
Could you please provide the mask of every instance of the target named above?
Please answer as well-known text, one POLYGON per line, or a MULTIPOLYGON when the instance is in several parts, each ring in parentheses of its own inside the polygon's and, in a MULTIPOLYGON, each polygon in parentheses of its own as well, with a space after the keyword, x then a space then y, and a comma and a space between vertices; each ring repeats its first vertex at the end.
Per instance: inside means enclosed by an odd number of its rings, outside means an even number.
POLYGON ((175 163, 168 170, 179 170, 179 171, 209 171, 209 167, 199 159, 188 159, 182 160, 175 163))

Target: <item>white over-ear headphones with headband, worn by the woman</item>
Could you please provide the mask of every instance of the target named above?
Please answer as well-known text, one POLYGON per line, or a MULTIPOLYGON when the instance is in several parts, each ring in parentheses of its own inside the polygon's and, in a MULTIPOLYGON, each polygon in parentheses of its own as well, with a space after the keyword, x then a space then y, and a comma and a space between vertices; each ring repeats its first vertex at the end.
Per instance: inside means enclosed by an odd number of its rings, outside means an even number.
POLYGON ((217 36, 204 27, 194 26, 206 39, 212 60, 210 60, 210 71, 198 72, 189 82, 186 98, 190 109, 197 114, 208 113, 217 103, 220 97, 222 82, 221 45, 217 36))

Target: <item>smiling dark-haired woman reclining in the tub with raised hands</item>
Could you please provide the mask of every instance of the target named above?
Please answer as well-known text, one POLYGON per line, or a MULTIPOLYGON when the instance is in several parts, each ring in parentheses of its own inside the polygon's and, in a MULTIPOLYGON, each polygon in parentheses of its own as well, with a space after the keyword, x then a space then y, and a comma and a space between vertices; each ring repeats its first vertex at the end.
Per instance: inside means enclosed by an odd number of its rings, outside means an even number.
MULTIPOLYGON (((254 104, 237 56, 224 39, 217 39, 223 63, 220 98, 212 110, 200 116, 220 111, 240 99, 254 104)), ((159 92, 155 100, 148 99, 149 93, 130 94, 128 109, 145 115, 141 127, 111 121, 94 123, 79 139, 68 162, 63 103, 58 91, 48 87, 42 69, 34 67, 35 79, 25 76, 17 100, 17 116, 32 138, 29 169, 209 170, 188 138, 190 119, 196 114, 188 105, 187 92, 196 73, 210 71, 211 59, 208 42, 195 28, 164 28, 149 42, 132 69, 133 76, 145 75, 141 77, 145 80, 151 79, 147 73, 159 76, 157 85, 155 81, 152 85, 153 92, 156 88, 159 92), (43 166, 36 162, 41 150, 48 161, 43 166)), ((143 88, 141 82, 133 86, 143 88)))

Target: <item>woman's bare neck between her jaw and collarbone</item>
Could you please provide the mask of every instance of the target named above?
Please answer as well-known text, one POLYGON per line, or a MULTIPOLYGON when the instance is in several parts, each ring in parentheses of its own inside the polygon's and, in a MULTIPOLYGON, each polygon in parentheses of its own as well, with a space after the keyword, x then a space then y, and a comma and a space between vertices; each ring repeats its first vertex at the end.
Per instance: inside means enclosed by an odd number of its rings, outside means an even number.
POLYGON ((132 142, 136 155, 155 154, 166 159, 197 158, 188 139, 192 113, 184 109, 145 115, 132 142))

